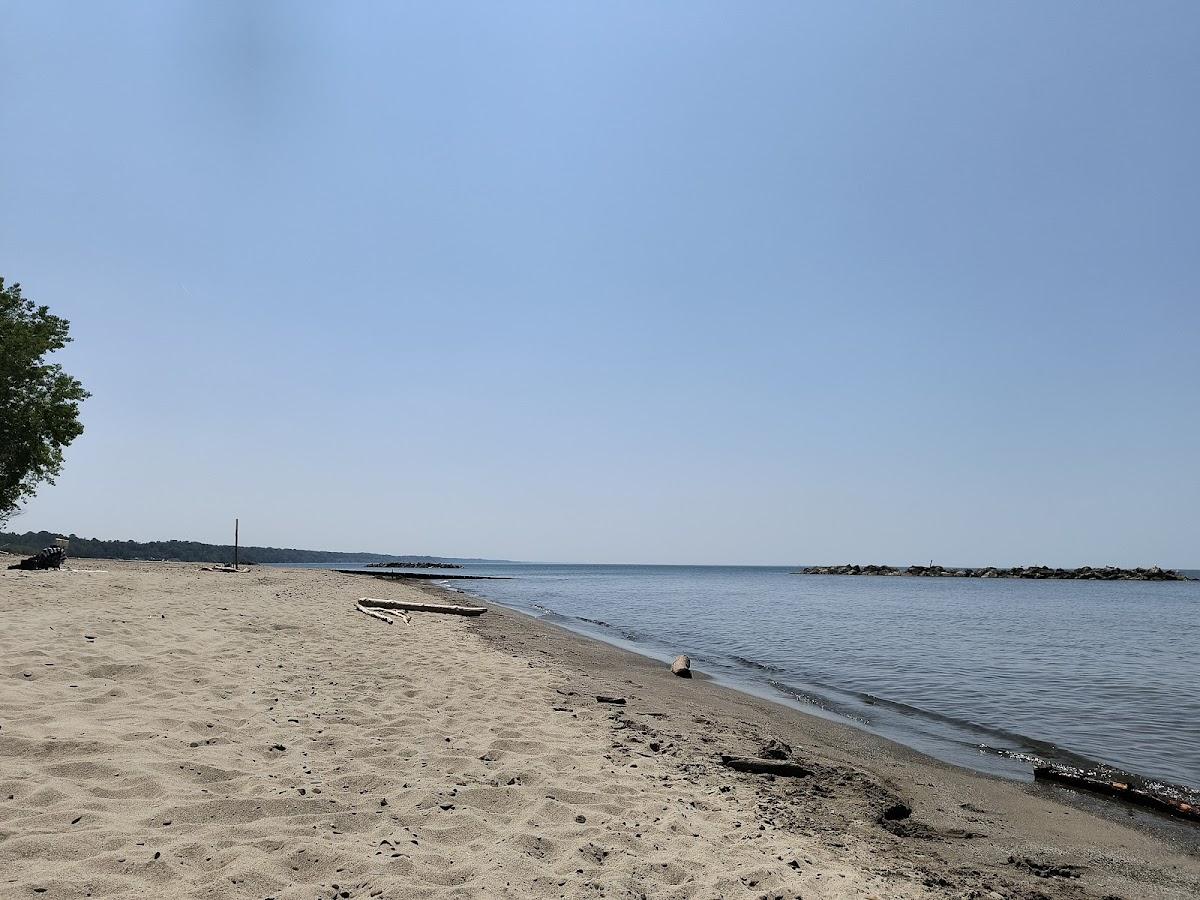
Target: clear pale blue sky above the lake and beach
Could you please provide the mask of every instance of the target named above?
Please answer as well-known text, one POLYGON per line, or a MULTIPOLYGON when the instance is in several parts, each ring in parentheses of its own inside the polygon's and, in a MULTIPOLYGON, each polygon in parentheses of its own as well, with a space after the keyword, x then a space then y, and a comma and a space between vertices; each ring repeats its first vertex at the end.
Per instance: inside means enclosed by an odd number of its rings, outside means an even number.
POLYGON ((0 2, 11 523, 1200 565, 1200 5, 0 2))

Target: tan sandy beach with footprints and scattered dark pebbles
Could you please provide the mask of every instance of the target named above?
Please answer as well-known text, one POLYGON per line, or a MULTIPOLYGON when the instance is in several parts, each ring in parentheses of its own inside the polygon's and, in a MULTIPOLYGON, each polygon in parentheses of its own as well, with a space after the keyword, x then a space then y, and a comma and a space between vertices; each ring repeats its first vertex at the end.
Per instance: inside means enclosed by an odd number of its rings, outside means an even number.
POLYGON ((72 566, 0 574, 0 898, 1200 896, 1194 828, 498 607, 352 607, 433 587, 72 566), (719 761, 770 739, 812 775, 719 761))

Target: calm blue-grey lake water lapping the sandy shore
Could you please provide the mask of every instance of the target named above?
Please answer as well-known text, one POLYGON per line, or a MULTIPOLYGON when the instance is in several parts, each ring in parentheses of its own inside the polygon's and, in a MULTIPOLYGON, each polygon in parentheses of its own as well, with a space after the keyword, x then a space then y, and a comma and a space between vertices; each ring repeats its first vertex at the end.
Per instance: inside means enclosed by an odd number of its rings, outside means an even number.
POLYGON ((942 760, 1027 778, 1102 762, 1200 790, 1200 582, 503 565, 458 590, 942 760))

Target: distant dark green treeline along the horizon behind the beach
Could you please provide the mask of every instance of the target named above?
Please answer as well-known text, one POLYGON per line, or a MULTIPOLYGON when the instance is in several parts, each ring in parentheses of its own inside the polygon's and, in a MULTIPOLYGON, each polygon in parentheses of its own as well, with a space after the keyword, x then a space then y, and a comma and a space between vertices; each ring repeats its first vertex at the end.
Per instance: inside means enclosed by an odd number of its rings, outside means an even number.
MULTIPOLYGON (((0 532, 0 550, 32 556, 43 547, 54 546, 53 532, 0 532)), ((67 556, 80 559, 170 559, 181 563, 233 563, 232 544, 200 544, 199 541, 103 541, 96 538, 66 535, 71 541, 67 556)), ((340 553, 328 550, 289 550, 284 547, 240 547, 242 563, 443 563, 442 557, 401 557, 386 553, 340 553)))

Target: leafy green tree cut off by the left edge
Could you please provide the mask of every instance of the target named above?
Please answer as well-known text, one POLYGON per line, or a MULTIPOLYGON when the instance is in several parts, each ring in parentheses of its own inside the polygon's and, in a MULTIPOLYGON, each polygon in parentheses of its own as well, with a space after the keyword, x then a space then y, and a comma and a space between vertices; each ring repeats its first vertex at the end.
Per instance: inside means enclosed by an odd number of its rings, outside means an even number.
POLYGON ((62 470, 62 449, 83 433, 88 391, 44 356, 62 349, 70 323, 0 278, 0 523, 62 470))

